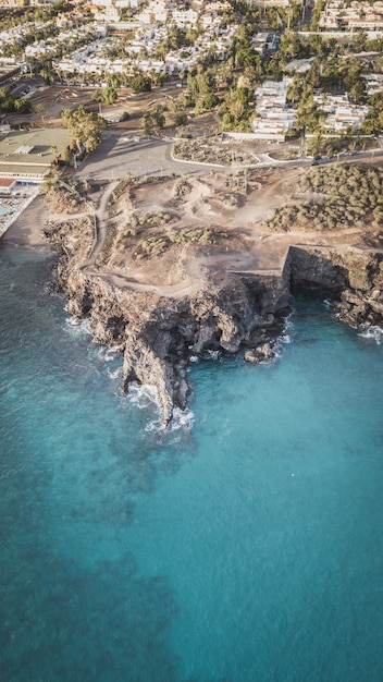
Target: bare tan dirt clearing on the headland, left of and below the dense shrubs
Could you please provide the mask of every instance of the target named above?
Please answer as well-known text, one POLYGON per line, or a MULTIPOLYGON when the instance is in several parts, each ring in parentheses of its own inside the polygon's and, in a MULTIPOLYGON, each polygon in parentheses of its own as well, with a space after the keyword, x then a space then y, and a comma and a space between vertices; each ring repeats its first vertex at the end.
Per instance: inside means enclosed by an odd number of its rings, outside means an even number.
POLYGON ((209 171, 132 181, 116 188, 102 248, 91 269, 121 288, 180 297, 209 273, 279 273, 291 244, 367 246, 376 228, 271 231, 274 209, 310 198, 299 169, 209 171))

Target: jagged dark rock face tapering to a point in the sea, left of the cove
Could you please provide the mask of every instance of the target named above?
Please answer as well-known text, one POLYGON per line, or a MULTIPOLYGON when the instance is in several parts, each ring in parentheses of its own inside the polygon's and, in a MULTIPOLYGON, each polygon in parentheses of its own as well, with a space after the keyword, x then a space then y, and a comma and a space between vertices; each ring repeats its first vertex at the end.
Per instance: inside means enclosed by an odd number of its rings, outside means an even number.
POLYGON ((284 277, 232 276, 225 287, 205 282, 198 294, 182 299, 121 289, 69 261, 59 266, 58 279, 69 312, 90 319, 95 341, 123 352, 123 388, 134 380, 157 388, 165 423, 175 405, 186 406, 192 355, 233 354, 272 340, 289 300, 284 277))

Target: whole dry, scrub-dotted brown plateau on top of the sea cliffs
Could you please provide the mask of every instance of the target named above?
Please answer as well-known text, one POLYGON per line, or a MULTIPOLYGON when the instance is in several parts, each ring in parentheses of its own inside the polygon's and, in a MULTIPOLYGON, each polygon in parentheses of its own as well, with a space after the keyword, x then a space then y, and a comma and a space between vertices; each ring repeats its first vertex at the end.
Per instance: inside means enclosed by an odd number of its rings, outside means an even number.
MULTIPOLYGON (((282 269, 302 233, 316 244, 381 248, 382 190, 383 169, 351 165, 128 178, 110 198, 94 252, 92 214, 65 215, 81 210, 63 190, 52 195, 61 215, 46 233, 118 287, 181 296, 201 288, 207 272, 282 269)), ((95 193, 87 196, 97 206, 95 193)))

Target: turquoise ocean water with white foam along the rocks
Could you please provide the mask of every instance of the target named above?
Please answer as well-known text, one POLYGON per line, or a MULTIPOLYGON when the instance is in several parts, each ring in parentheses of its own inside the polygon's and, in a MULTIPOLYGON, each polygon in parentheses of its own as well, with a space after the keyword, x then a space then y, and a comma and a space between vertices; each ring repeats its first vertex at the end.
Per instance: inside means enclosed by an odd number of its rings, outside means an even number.
POLYGON ((381 682, 379 330, 297 296, 164 433, 52 258, 0 259, 1 682, 381 682))

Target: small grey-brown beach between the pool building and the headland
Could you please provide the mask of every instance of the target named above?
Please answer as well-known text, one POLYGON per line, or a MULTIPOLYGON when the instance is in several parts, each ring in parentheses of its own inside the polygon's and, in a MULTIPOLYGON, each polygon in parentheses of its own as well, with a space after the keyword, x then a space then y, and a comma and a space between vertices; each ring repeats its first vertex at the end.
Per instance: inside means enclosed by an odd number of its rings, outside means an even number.
POLYGON ((9 244, 49 249, 47 241, 40 234, 48 216, 49 209, 45 205, 44 197, 37 195, 2 235, 1 241, 9 244))

